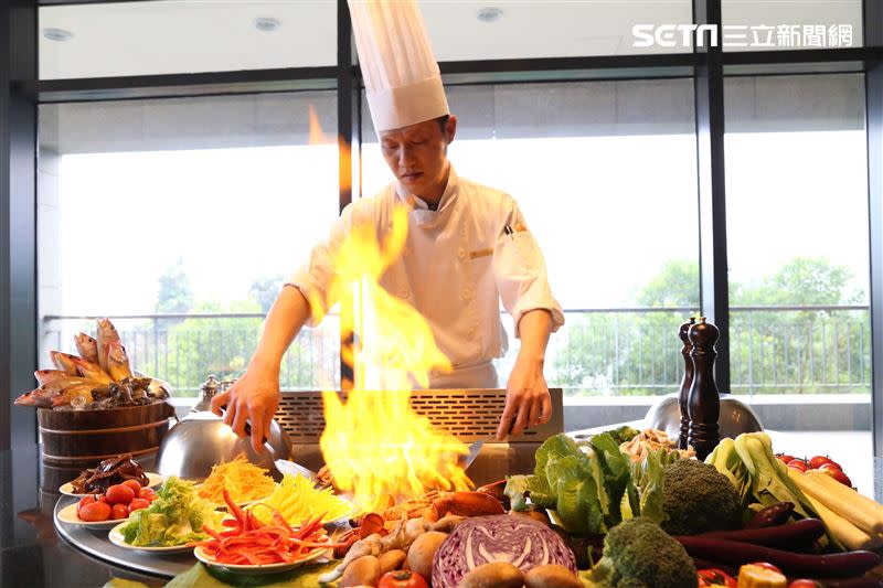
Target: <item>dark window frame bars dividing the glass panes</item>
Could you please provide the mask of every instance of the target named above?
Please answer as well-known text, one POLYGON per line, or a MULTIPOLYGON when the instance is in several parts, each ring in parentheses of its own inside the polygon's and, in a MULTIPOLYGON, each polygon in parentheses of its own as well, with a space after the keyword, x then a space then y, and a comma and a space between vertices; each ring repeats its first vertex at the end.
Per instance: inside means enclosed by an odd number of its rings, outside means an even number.
MULTIPOLYGON (((361 78, 354 60, 347 0, 337 0, 337 65, 82 79, 38 79, 39 9, 107 0, 20 0, 0 11, 0 449, 35 442, 34 416, 11 399, 36 367, 36 107, 58 101, 217 96, 337 89, 342 210, 361 193, 361 78), (8 88, 8 89, 7 89, 8 88), (351 186, 351 188, 345 188, 351 186), (7 293, 9 296, 7 296, 7 293)), ((136 0, 151 1, 151 0, 136 0)), ((696 24, 722 25, 721 0, 692 0, 696 24)), ((783 73, 865 75, 870 205, 872 403, 874 455, 883 457, 883 3, 863 1, 863 46, 723 52, 696 47, 672 54, 440 63, 446 84, 503 84, 573 79, 691 77, 695 93, 696 170, 702 312, 721 330, 716 377, 730 387, 730 302, 726 271, 723 79, 783 73)), ((344 342, 345 343, 345 342, 344 342)), ((341 362, 341 381, 348 379, 341 362)), ((349 374, 351 381, 351 373, 349 374)), ((344 384, 345 386, 345 384, 344 384)))

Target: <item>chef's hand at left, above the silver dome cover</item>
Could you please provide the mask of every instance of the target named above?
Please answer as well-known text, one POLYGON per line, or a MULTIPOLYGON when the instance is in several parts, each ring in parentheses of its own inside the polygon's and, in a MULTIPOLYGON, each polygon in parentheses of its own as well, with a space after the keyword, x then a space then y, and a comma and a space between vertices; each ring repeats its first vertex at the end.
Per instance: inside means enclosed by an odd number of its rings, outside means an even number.
POLYGON ((255 366, 249 366, 244 376, 212 398, 212 413, 223 416, 224 423, 240 437, 246 435, 246 420, 252 424, 252 447, 257 452, 264 450, 264 439, 269 438, 269 424, 278 407, 279 374, 255 366))

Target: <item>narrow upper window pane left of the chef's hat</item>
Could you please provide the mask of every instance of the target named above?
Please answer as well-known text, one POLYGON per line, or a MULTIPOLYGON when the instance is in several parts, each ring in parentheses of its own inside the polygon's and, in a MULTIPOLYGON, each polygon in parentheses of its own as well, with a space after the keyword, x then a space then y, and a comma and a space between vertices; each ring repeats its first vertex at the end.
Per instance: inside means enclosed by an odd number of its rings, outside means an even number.
POLYGON ((42 79, 337 63, 322 0, 170 0, 40 8, 42 79))

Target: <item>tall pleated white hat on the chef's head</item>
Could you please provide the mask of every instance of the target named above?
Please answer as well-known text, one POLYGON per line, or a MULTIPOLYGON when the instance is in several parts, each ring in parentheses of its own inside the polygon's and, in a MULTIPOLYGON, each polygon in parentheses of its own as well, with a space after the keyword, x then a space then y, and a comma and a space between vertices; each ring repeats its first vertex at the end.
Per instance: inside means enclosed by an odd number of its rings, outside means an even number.
POLYGON ((450 114, 416 0, 348 0, 374 130, 450 114))

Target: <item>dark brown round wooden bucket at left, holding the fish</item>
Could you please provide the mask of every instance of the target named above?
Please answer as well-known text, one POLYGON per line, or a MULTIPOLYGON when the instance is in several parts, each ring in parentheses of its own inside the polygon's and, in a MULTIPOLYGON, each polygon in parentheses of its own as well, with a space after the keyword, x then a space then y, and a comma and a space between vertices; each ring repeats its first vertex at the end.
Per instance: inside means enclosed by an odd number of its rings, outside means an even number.
POLYGON ((173 415, 174 407, 169 403, 103 410, 38 408, 41 488, 57 492, 86 468, 120 453, 131 453, 145 471, 152 471, 173 415))

